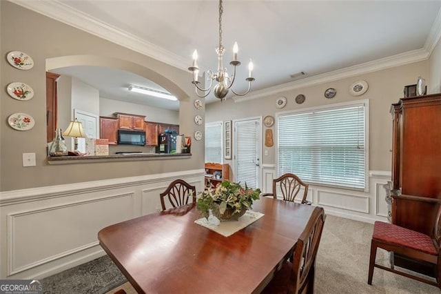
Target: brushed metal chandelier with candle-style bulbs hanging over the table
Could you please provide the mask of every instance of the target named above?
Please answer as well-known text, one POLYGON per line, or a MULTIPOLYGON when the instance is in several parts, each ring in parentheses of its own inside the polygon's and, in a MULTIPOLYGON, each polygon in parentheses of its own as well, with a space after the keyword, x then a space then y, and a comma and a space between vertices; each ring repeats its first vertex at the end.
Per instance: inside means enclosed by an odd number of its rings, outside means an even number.
MULTIPOLYGON (((207 97, 209 93, 212 91, 213 81, 216 80, 217 84, 214 86, 214 96, 220 100, 224 100, 225 96, 227 96, 228 91, 230 88, 232 88, 234 84, 234 79, 236 78, 236 66, 240 66, 240 61, 237 60, 237 52, 238 52, 238 46, 237 42, 234 43, 233 47, 233 60, 230 61, 230 65, 233 66, 233 74, 231 77, 228 75, 227 68, 223 68, 223 54, 225 53, 225 48, 222 46, 222 14, 223 14, 223 6, 222 6, 222 0, 219 1, 219 44, 216 48, 216 53, 218 55, 218 70, 217 72, 212 72, 212 70, 207 70, 207 79, 209 79, 209 86, 207 88, 201 88, 198 86, 198 84, 201 84, 200 81, 198 81, 198 73, 199 68, 196 63, 198 59, 198 52, 197 50, 194 50, 193 52, 193 64, 188 68, 191 72, 193 72, 193 81, 192 84, 195 86, 196 95, 198 97, 207 97), (201 92, 201 94, 200 94, 201 92)), ((245 79, 245 81, 248 81, 248 89, 243 93, 235 92, 233 89, 232 92, 234 95, 237 96, 244 96, 247 95, 249 90, 251 90, 251 82, 254 81, 253 77, 253 63, 251 59, 249 59, 248 64, 248 77, 245 79)))

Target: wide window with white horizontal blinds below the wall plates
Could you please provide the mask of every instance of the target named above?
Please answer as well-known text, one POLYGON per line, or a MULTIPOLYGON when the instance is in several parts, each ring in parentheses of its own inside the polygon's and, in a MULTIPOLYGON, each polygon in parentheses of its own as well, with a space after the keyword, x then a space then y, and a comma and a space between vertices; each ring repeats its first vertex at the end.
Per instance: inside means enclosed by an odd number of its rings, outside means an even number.
POLYGON ((368 101, 278 115, 278 175, 367 190, 368 101))

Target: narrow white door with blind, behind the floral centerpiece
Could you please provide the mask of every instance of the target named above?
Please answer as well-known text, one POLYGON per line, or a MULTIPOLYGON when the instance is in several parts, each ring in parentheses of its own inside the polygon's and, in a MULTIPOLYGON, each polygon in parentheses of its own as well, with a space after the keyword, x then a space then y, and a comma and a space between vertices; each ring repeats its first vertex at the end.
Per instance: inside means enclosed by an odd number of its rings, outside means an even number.
POLYGON ((234 121, 235 182, 260 188, 260 118, 234 121))

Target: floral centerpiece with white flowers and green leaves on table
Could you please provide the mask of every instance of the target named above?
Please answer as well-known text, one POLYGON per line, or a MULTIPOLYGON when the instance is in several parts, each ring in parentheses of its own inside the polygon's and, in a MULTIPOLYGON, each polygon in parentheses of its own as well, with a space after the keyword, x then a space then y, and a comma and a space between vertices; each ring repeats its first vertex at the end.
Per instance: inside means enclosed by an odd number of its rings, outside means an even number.
POLYGON ((201 211, 207 219, 209 210, 221 222, 227 219, 238 219, 252 208, 254 200, 259 199, 260 189, 245 188, 240 183, 224 181, 216 188, 207 188, 198 195, 196 208, 201 211))

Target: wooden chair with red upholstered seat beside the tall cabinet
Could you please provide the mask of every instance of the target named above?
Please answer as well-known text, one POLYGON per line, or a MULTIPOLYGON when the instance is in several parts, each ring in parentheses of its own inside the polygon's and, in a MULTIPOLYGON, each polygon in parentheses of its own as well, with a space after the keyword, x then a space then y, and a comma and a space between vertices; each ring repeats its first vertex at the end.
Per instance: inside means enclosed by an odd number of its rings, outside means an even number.
POLYGON ((411 195, 391 195, 391 197, 393 202, 396 201, 396 199, 405 199, 409 201, 429 202, 433 205, 438 205, 438 213, 435 218, 435 223, 433 224, 433 233, 431 235, 426 235, 409 228, 397 226, 396 224, 379 221, 375 222, 373 224, 371 239, 371 256, 369 259, 367 284, 372 284, 373 268, 377 267, 384 271, 390 271, 391 273, 396 273, 413 280, 437 286, 441 289, 441 200, 411 195), (413 260, 417 259, 432 264, 436 282, 422 276, 413 275, 410 272, 404 273, 404 271, 396 270, 393 264, 393 257, 390 259, 390 267, 376 264, 375 259, 377 248, 382 248, 393 254, 396 253, 404 258, 413 260))

